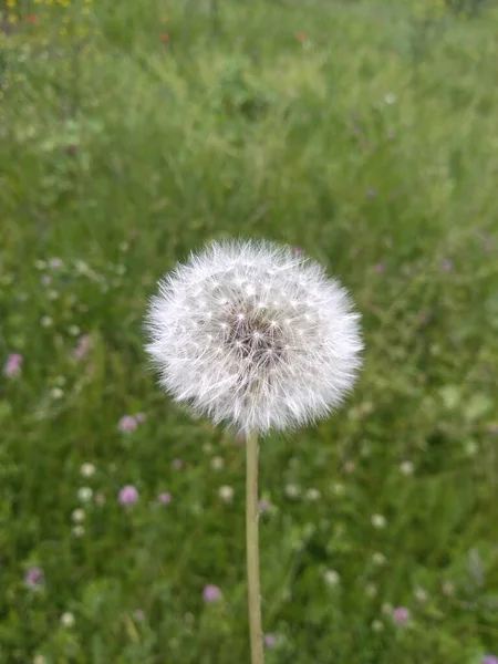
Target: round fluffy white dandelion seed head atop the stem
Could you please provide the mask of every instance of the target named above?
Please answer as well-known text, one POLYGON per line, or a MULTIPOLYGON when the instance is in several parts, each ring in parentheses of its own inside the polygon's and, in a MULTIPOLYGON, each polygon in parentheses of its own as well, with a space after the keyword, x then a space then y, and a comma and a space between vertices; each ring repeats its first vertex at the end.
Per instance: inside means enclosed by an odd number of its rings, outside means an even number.
POLYGON ((267 434, 341 403, 361 364, 359 318, 345 289, 291 248, 215 242, 159 282, 147 351, 176 402, 267 434))

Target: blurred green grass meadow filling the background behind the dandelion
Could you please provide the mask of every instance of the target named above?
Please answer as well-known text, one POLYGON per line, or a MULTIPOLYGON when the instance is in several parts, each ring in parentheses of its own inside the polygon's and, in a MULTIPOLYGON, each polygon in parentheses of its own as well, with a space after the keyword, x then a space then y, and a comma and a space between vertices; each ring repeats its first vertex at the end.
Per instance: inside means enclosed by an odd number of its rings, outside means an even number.
POLYGON ((162 394, 142 329, 166 270, 239 235, 324 262, 366 344, 341 412, 261 447, 268 664, 498 655, 496 9, 20 4, 0 34, 0 359, 23 356, 0 383, 0 664, 248 662, 243 453, 162 394))

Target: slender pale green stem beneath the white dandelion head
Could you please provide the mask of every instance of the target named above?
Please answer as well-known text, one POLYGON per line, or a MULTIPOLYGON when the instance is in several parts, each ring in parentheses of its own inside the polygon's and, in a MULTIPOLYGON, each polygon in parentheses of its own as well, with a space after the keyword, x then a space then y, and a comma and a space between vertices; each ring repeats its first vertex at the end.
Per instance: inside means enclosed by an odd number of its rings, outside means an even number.
POLYGON ((247 588, 251 664, 263 664, 261 591, 259 581, 258 434, 256 432, 247 438, 246 457, 247 588))

